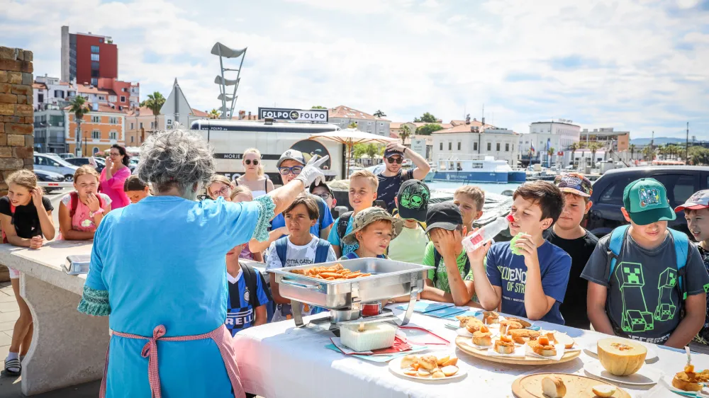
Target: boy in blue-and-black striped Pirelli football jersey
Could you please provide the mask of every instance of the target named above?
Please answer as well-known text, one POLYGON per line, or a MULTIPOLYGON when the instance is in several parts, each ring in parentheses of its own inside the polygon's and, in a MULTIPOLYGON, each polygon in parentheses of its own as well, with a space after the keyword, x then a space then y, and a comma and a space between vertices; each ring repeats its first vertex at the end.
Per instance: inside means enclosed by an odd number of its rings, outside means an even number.
POLYGON ((240 330, 265 324, 266 305, 273 300, 259 270, 239 262, 244 246, 240 244, 226 254, 229 297, 225 325, 232 336, 240 330))

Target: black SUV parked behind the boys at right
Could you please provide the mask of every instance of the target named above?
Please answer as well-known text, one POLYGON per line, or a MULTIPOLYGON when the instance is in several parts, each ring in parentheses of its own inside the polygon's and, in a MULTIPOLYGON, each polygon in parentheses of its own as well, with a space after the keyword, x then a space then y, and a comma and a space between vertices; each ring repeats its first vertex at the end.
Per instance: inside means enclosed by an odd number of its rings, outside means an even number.
MULTIPOLYGON (((667 190, 667 200, 674 208, 696 191, 709 186, 707 166, 666 166, 630 167, 610 170, 593 183, 593 207, 588 212, 586 229, 603 237, 615 227, 627 224, 620 207, 623 207, 623 190, 627 184, 639 178, 654 178, 667 190)), ((669 222, 669 227, 689 234, 684 212, 677 213, 677 219, 669 222)))

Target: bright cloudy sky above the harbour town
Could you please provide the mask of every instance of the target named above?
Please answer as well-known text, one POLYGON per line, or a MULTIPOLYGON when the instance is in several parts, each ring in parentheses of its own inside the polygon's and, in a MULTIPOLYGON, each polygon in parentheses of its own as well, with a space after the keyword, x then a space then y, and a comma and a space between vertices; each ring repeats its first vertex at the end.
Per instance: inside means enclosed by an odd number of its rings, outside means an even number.
POLYGON ((219 108, 219 41, 248 48, 236 110, 447 122, 484 107, 516 132, 563 118, 684 137, 689 122, 709 140, 709 0, 0 0, 0 45, 32 50, 35 75, 60 76, 62 25, 111 36, 141 100, 177 78, 193 108, 219 108))

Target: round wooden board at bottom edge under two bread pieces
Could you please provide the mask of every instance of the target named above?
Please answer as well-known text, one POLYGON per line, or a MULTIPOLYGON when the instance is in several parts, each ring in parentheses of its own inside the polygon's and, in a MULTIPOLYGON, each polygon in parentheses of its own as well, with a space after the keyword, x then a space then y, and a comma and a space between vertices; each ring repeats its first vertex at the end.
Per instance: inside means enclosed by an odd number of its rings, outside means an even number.
POLYGON ((566 386, 566 395, 564 397, 593 398, 596 397, 596 394, 593 394, 591 387, 595 385, 612 385, 617 389, 615 394, 613 394, 613 398, 630 398, 630 394, 613 383, 566 373, 537 373, 519 377, 512 383, 512 393, 517 398, 548 398, 545 394, 542 394, 542 379, 548 376, 559 377, 564 382, 566 386))

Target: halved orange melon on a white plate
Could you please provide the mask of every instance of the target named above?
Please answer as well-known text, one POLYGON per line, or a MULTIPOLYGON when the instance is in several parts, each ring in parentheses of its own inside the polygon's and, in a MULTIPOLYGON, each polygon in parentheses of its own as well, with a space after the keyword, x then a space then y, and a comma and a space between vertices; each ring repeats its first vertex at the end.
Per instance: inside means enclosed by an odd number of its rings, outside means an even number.
POLYGON ((598 359, 605 370, 616 376, 628 376, 637 372, 645 363, 647 348, 627 339, 598 340, 598 359))

